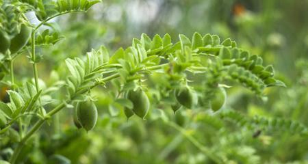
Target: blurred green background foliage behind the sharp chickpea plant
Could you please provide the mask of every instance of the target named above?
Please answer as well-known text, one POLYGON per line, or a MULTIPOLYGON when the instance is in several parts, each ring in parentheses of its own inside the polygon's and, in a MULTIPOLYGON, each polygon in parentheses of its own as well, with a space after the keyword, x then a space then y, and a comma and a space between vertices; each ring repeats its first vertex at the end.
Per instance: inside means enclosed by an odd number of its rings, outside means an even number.
MULTIPOLYGON (((31 13, 28 16, 36 23, 31 13)), ((86 14, 61 16, 53 22, 58 23, 57 29, 65 39, 38 49, 45 60, 39 65, 39 76, 44 81, 65 79, 66 57, 86 55, 102 44, 115 51, 129 46, 131 39, 139 38, 141 33, 151 37, 169 33, 172 38, 179 33, 192 36, 194 31, 213 33, 222 40, 232 38, 241 48, 264 57, 264 63, 273 64, 277 77, 287 85, 267 89, 267 100, 233 86, 227 90, 226 108, 251 118, 285 118, 308 126, 307 0, 104 0, 86 14), (50 76, 51 70, 60 72, 59 77, 50 76)), ((16 63, 16 74, 22 79, 30 66, 26 57, 19 57, 16 63)), ((35 144, 25 147, 23 152, 31 153, 21 156, 23 161, 55 163, 60 154, 71 163, 82 164, 214 163, 188 134, 224 156, 227 163, 308 163, 308 139, 296 133, 284 129, 248 131, 202 112, 181 110, 174 115, 169 106, 152 107, 146 121, 136 116, 127 121, 122 109, 110 107, 108 92, 103 87, 93 92, 99 109, 94 131, 78 131, 73 126, 73 111, 61 111, 54 124, 45 124, 42 135, 33 138, 35 144), (157 116, 162 114, 157 109, 164 110, 164 117, 157 116), (183 126, 187 134, 162 122, 162 118, 183 126)), ((57 94, 65 96, 64 92, 57 94)), ((3 145, 10 145, 10 140, 3 141, 3 145)), ((4 159, 10 153, 10 149, 1 150, 4 159)))

